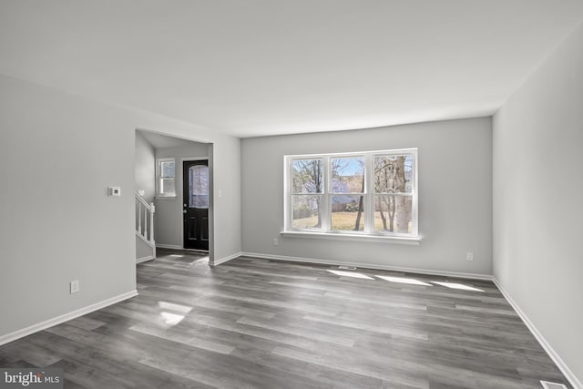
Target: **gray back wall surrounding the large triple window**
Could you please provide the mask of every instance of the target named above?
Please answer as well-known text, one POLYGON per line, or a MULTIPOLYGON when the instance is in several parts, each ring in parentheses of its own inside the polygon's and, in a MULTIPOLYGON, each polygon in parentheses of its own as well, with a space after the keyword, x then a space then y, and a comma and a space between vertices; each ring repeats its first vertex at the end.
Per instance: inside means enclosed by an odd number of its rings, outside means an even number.
POLYGON ((283 137, 241 146, 243 251, 429 271, 492 272, 490 118, 283 137), (419 246, 281 237, 283 156, 419 148, 419 246), (280 240, 273 246, 273 238, 280 240), (465 253, 474 252, 475 261, 465 253))

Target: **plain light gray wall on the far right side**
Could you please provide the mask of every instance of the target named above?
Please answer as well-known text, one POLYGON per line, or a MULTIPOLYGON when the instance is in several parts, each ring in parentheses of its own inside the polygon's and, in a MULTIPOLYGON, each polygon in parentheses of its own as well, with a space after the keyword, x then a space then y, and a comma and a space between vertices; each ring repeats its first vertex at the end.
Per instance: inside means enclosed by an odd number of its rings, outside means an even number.
POLYGON ((493 120, 494 273, 579 381, 583 381, 581 69, 583 25, 493 120))

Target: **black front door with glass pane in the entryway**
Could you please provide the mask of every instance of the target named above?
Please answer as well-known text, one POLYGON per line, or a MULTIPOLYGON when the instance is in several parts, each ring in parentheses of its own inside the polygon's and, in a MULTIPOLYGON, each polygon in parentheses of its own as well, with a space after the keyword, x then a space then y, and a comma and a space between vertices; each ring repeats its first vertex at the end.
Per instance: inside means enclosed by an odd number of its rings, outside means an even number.
POLYGON ((209 250, 209 161, 182 162, 184 248, 209 250))

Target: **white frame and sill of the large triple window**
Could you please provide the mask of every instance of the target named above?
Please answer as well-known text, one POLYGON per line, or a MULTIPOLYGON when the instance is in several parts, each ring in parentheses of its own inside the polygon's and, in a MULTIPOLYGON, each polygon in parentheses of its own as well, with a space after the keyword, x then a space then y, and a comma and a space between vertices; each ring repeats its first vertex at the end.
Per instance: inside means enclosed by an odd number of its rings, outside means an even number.
MULTIPOLYGON (((340 239, 356 241, 398 241, 402 243, 418 244, 421 241, 419 236, 419 189, 418 189, 418 158, 417 148, 398 148, 375 151, 362 151, 350 153, 330 153, 330 154, 302 154, 284 156, 284 230, 282 235, 302 238, 319 238, 319 239, 340 239), (413 229, 411 233, 399 233, 391 231, 374 231, 374 178, 373 178, 373 161, 377 156, 403 155, 412 154, 414 159, 413 166, 413 189, 411 193, 395 194, 397 196, 411 196, 412 210, 411 220, 413 220, 413 229), (343 231, 332 230, 332 167, 331 161, 336 158, 364 158, 364 228, 363 231, 343 231), (298 159, 322 159, 323 169, 323 192, 322 192, 322 228, 321 229, 297 229, 292 227, 293 220, 293 201, 292 201, 292 161, 298 159)), ((361 195, 361 193, 347 193, 347 195, 361 195)))

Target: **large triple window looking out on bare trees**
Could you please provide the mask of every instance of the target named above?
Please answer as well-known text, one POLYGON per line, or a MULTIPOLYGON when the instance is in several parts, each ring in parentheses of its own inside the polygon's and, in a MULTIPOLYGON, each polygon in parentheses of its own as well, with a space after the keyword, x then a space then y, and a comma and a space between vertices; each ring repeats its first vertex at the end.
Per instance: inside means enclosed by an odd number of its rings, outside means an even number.
POLYGON ((285 231, 417 238, 417 149, 286 156, 285 231))

